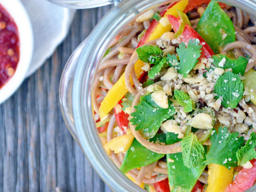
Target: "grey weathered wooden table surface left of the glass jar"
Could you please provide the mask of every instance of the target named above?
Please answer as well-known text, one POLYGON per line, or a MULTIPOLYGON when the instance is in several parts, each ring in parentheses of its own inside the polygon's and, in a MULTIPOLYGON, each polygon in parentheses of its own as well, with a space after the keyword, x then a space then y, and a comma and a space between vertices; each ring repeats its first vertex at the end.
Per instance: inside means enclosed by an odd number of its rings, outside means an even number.
POLYGON ((110 7, 78 10, 52 57, 0 105, 0 192, 111 192, 71 137, 58 92, 70 54, 110 7))

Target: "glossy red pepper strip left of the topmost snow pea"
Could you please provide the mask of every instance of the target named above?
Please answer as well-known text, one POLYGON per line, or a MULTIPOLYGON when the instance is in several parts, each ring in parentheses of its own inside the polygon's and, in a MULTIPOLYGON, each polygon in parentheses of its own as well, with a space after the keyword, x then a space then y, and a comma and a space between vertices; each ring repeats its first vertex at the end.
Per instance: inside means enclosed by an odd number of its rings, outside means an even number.
MULTIPOLYGON (((171 23, 172 28, 176 33, 176 31, 178 31, 178 29, 180 28, 179 19, 174 17, 173 15, 167 15, 166 17, 169 19, 169 22, 171 23)), ((191 28, 188 24, 185 25, 184 31, 182 35, 180 35, 180 39, 184 43, 189 42, 190 39, 199 39, 199 44, 202 45, 202 52, 199 59, 209 58, 212 57, 212 55, 214 55, 214 52, 211 49, 211 47, 204 41, 204 39, 197 33, 197 31, 191 28)))

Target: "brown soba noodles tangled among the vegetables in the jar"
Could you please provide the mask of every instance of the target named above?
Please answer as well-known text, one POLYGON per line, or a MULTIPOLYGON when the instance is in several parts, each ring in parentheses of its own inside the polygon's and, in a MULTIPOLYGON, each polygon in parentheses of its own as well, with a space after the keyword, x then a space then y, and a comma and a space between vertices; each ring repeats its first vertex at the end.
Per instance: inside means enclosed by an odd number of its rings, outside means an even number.
MULTIPOLYGON (((202 9, 193 9, 190 11, 190 22, 195 28, 199 21, 200 15, 202 13, 198 13, 197 10, 204 10, 207 4, 202 5, 202 9)), ((232 6, 226 6, 224 11, 228 14, 228 16, 232 19, 232 22, 235 26, 236 30, 236 42, 232 42, 227 44, 221 50, 222 54, 226 54, 227 52, 234 52, 236 57, 248 55, 251 57, 249 59, 249 63, 246 67, 245 72, 250 69, 255 68, 256 62, 256 22, 255 18, 248 13, 245 13, 241 9, 232 6)), ((139 102, 141 95, 143 95, 146 88, 142 88, 141 83, 139 82, 135 70, 134 64, 138 60, 137 53, 135 52, 135 47, 137 46, 138 40, 137 35, 138 32, 143 31, 143 29, 147 29, 150 25, 150 20, 146 20, 143 23, 141 22, 133 22, 126 28, 124 28, 119 35, 113 39, 113 41, 109 44, 109 48, 112 47, 112 50, 102 59, 101 64, 98 68, 98 72, 96 74, 95 81, 93 83, 93 105, 95 113, 99 114, 99 105, 102 102, 106 92, 113 87, 113 85, 120 78, 122 73, 125 74, 125 85, 130 93, 132 93, 135 98, 132 103, 132 110, 135 111, 134 106, 139 102), (122 58, 118 58, 117 55, 119 52, 122 52, 122 58), (103 79, 102 79, 103 77, 103 79), (132 81, 130 81, 132 79, 132 81), (133 84, 131 83, 133 82, 133 84), (102 88, 102 89, 101 89, 102 88), (106 91, 105 91, 106 90, 106 91), (97 95, 100 97, 97 98, 97 95)), ((158 39, 154 41, 150 41, 145 45, 155 45, 158 39)), ((173 44, 173 46, 177 46, 173 44)), ((162 81, 158 81, 157 84, 163 83, 162 81)), ((190 87, 190 85, 186 84, 182 87, 183 90, 186 90, 190 87)), ((197 87, 194 87, 197 89, 197 87)), ((256 113, 250 113, 249 106, 241 101, 239 105, 247 112, 247 114, 254 120, 256 120, 256 113)), ((253 105, 251 103, 251 105, 253 105)), ((252 106, 254 109, 255 105, 252 106)), ((113 138, 113 129, 115 126, 115 115, 113 112, 110 112, 111 118, 108 124, 107 129, 107 140, 108 142, 113 138)), ((180 142, 177 142, 172 145, 160 145, 155 144, 153 142, 147 141, 139 131, 135 130, 135 126, 130 124, 130 129, 134 137, 146 148, 156 153, 178 153, 181 151, 180 142)), ((255 130, 253 130, 255 131, 255 130)), ((245 136, 245 139, 248 140, 249 136, 245 136)), ((110 152, 110 157, 113 159, 115 164, 118 167, 121 166, 121 163, 124 159, 124 154, 120 152, 120 154, 115 154, 113 151, 110 152)), ((140 185, 143 183, 155 183, 161 180, 166 179, 167 176, 167 164, 159 160, 158 162, 154 162, 148 166, 141 167, 140 170, 134 169, 129 172, 129 174, 134 177, 135 183, 140 185), (162 174, 159 177, 155 177, 157 174, 162 174)), ((199 181, 207 184, 207 172, 204 172, 200 177, 199 181)))

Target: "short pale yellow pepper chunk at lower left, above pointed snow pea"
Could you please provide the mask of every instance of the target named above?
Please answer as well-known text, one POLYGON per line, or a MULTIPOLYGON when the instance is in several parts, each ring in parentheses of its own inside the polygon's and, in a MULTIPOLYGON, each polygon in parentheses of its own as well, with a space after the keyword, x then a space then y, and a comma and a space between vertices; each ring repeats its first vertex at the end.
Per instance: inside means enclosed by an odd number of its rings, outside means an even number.
POLYGON ((126 135, 120 135, 111 139, 104 145, 104 148, 108 154, 110 153, 110 150, 114 151, 114 153, 127 151, 132 145, 133 140, 134 135, 132 135, 132 131, 128 129, 126 135))

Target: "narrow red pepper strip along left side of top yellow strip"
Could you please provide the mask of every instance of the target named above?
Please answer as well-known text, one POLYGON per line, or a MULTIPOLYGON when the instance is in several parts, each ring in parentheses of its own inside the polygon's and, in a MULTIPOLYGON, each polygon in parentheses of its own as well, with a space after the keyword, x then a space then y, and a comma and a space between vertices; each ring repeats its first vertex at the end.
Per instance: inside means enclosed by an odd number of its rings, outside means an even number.
MULTIPOLYGON (((165 15, 165 12, 167 11, 167 9, 173 7, 176 3, 178 3, 179 1, 176 2, 172 2, 169 6, 165 7, 165 9, 163 9, 159 15, 161 17, 163 17, 165 15)), ((139 41, 138 45, 136 48, 142 46, 143 44, 145 44, 148 40, 148 38, 150 37, 151 33, 155 30, 156 26, 158 25, 158 21, 153 19, 152 22, 150 23, 150 26, 148 27, 147 31, 144 33, 143 37, 141 37, 141 40, 139 41)))

